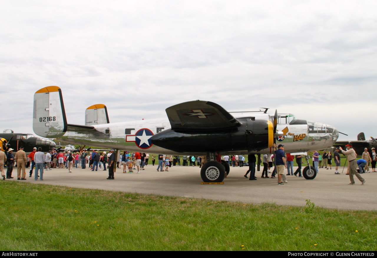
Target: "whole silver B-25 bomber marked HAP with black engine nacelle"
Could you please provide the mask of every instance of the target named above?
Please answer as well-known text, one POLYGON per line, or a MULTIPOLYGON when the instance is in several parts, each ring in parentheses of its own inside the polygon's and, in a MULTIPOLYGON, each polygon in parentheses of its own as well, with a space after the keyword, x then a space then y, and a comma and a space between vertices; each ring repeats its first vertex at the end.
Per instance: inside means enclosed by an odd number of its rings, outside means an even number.
MULTIPOLYGON (((204 182, 222 182, 229 165, 215 161, 221 154, 270 154, 273 144, 286 153, 303 153, 333 146, 339 133, 319 122, 292 114, 228 112, 210 101, 189 101, 166 108, 167 118, 109 123, 105 105, 87 108, 85 125, 67 124, 61 89, 49 86, 34 94, 33 129, 36 134, 71 144, 170 155, 206 155, 204 182), (236 115, 232 115, 234 113, 236 115)), ((316 172, 303 169, 306 179, 316 172)))

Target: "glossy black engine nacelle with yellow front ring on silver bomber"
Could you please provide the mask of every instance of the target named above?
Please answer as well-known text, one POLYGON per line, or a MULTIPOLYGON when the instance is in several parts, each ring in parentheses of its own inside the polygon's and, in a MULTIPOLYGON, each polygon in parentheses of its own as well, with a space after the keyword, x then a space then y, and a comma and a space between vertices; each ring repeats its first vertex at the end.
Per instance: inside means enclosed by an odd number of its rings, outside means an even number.
POLYGON ((165 130, 152 143, 176 152, 256 151, 273 144, 273 125, 254 118, 238 119, 239 126, 220 130, 165 130))

